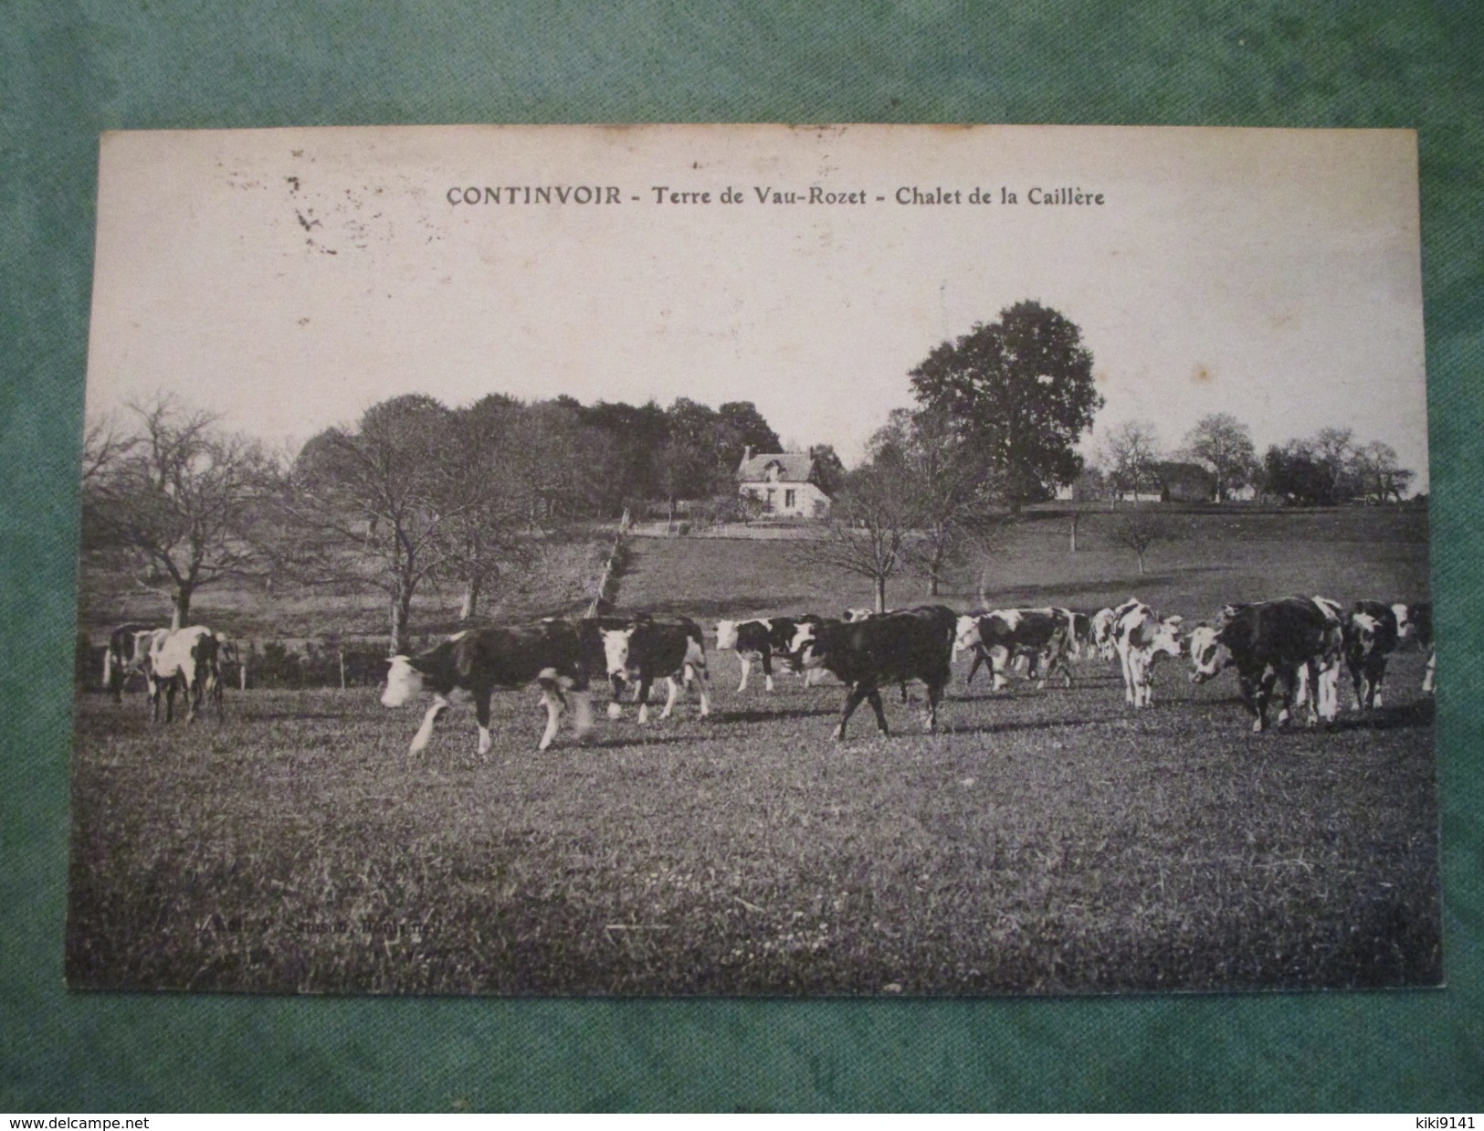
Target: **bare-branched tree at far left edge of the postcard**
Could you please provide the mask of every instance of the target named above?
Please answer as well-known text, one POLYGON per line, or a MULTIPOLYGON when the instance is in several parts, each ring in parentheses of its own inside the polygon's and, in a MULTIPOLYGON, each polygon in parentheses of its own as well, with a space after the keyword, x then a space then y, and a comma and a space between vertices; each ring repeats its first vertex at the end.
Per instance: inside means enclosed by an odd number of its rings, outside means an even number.
POLYGON ((171 398, 132 405, 132 433, 89 429, 83 465, 83 548, 120 560, 171 601, 171 626, 190 620, 196 591, 261 567, 254 540, 272 462, 209 413, 171 398))

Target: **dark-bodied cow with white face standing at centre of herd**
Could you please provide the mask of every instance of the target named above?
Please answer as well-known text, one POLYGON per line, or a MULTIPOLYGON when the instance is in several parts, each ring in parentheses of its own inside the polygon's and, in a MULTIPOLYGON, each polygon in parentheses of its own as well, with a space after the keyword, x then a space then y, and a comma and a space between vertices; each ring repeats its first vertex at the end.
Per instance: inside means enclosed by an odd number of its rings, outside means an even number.
POLYGON ((938 726, 938 702, 953 674, 953 640, 957 614, 941 604, 880 613, 864 620, 822 620, 800 625, 789 646, 801 668, 824 668, 849 686, 835 739, 862 699, 876 711, 876 724, 887 733, 880 686, 922 680, 928 684, 926 727, 938 726))

